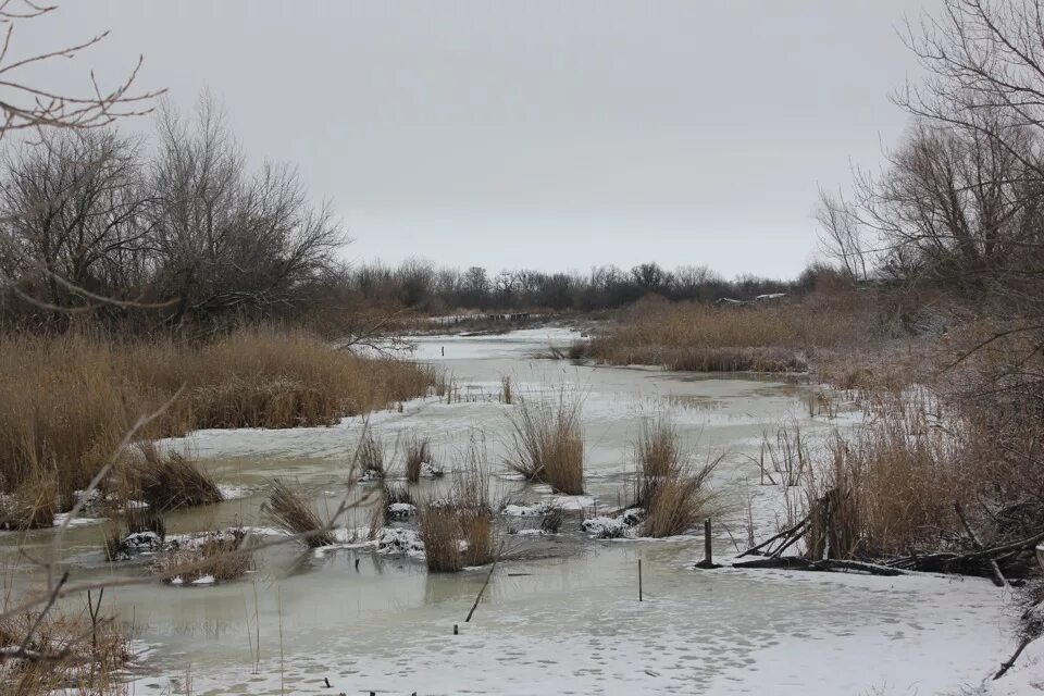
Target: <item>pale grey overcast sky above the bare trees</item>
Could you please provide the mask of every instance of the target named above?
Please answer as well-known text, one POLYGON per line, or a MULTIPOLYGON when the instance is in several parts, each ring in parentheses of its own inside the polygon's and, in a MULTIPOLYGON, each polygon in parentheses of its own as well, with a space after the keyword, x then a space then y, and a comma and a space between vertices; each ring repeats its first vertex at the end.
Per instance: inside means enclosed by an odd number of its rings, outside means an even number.
POLYGON ((655 260, 785 276, 817 187, 873 165, 931 0, 64 0, 21 52, 111 29, 45 75, 207 86, 256 162, 296 163, 346 257, 546 270, 655 260))

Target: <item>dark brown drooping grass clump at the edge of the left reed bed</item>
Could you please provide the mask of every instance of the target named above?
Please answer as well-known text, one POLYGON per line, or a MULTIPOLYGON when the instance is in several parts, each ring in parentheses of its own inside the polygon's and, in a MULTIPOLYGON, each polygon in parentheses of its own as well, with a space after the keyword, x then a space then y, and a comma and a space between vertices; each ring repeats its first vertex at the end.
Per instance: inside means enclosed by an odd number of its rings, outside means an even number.
POLYGON ((126 464, 127 494, 157 512, 221 502, 214 480, 199 463, 177 452, 161 452, 152 443, 139 443, 138 457, 126 464))

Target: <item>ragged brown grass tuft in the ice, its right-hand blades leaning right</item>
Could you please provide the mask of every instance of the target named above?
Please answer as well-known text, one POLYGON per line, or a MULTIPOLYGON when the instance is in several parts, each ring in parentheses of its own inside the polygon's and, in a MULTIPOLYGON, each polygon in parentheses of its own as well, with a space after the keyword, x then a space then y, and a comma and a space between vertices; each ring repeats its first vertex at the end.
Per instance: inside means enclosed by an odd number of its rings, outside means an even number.
POLYGON ((645 509, 642 535, 675 536, 696 527, 713 498, 707 478, 721 458, 694 467, 676 428, 666 419, 643 424, 634 456, 635 497, 645 509))

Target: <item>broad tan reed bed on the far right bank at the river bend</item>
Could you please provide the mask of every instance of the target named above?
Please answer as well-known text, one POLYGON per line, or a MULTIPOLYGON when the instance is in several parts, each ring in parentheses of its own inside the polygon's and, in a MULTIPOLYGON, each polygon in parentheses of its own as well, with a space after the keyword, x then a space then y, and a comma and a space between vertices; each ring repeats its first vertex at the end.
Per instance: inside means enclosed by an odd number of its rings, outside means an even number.
POLYGON ((679 371, 804 371, 817 351, 874 340, 884 331, 878 312, 871 296, 747 307, 643 300, 585 351, 611 364, 679 371))

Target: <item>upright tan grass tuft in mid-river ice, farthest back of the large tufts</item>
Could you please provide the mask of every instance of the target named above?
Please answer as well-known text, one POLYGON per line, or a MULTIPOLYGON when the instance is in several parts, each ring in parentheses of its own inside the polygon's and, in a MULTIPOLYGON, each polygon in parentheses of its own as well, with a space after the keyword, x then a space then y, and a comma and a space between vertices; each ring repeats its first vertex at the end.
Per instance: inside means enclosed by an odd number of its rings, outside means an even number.
POLYGON ((511 421, 513 452, 507 461, 526 481, 559 493, 584 492, 584 437, 581 401, 562 394, 557 403, 522 399, 511 421))

